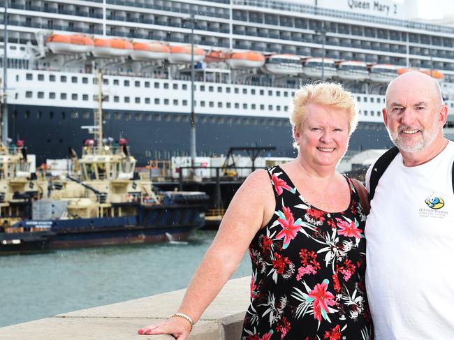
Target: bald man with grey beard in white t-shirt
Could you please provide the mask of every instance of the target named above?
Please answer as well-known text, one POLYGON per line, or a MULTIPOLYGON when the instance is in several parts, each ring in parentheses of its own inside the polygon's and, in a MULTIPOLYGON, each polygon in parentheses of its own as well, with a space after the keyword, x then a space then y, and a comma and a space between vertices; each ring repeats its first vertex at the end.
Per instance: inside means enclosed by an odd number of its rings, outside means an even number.
MULTIPOLYGON (((454 142, 439 84, 420 72, 390 82, 383 120, 400 153, 367 217, 367 296, 375 340, 454 339, 454 142)), ((369 168, 366 177, 369 186, 369 168)), ((369 191, 369 188, 367 188, 369 191)))

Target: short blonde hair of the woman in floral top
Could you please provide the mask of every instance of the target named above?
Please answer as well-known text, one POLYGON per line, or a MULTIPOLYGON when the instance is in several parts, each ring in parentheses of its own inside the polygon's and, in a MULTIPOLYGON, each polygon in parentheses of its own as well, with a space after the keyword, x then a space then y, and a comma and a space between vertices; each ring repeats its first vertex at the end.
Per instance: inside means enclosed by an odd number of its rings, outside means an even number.
POLYGON ((358 105, 349 91, 341 84, 334 82, 318 82, 317 84, 305 84, 295 92, 290 104, 290 123, 293 130, 300 130, 307 116, 307 105, 316 104, 328 106, 347 113, 349 119, 349 135, 355 131, 358 125, 358 105))

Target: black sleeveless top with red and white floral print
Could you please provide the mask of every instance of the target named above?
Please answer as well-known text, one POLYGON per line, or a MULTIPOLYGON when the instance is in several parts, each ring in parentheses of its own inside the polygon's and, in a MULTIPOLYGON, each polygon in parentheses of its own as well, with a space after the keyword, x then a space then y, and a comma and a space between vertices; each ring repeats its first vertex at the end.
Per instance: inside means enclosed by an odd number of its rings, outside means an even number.
POLYGON ((309 205, 284 170, 268 168, 276 208, 249 246, 251 304, 242 339, 372 339, 365 296, 365 215, 309 205))

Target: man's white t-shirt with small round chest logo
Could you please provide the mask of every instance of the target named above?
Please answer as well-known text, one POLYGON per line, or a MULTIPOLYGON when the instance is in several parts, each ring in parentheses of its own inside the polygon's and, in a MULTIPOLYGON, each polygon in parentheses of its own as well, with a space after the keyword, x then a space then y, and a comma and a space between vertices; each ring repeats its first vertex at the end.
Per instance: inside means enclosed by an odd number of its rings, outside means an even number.
POLYGON ((375 340, 454 339, 453 161, 454 142, 412 168, 397 154, 376 187, 365 228, 375 340))

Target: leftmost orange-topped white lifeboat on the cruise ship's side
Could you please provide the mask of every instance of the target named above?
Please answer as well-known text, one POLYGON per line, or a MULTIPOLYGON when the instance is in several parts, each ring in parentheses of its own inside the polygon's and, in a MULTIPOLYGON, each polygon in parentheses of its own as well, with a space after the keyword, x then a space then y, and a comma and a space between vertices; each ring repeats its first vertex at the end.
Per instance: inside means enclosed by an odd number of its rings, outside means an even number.
POLYGON ((94 47, 91 38, 79 34, 51 34, 47 36, 45 43, 53 53, 63 54, 90 52, 94 47))

